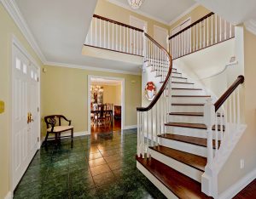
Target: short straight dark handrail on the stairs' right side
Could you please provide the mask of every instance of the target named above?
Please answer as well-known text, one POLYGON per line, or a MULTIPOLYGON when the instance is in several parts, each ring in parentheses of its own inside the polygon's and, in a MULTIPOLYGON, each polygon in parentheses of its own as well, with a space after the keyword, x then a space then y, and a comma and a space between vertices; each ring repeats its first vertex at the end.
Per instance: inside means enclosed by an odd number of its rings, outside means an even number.
POLYGON ((227 89, 227 91, 218 99, 218 101, 214 104, 215 111, 218 111, 221 105, 224 104, 225 100, 229 98, 230 94, 233 93, 233 91, 244 82, 243 76, 238 76, 236 81, 233 82, 233 84, 230 86, 230 88, 227 89))

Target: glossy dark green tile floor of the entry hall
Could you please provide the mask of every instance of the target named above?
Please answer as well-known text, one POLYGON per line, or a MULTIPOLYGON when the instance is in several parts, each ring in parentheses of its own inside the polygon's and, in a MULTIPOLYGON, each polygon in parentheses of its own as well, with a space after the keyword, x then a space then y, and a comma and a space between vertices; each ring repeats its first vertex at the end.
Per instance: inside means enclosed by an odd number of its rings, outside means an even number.
POLYGON ((136 168, 137 129, 49 142, 14 198, 165 198, 136 168))

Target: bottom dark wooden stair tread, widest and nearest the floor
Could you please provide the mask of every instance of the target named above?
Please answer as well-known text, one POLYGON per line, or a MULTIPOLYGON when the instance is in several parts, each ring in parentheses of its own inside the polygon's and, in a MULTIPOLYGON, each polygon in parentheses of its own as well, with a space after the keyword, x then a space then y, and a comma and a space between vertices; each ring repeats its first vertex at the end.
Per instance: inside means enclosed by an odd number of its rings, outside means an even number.
POLYGON ((137 156, 137 162, 140 162, 148 172, 152 173, 178 198, 211 198, 201 192, 201 184, 199 182, 190 179, 183 173, 177 172, 152 157, 143 159, 137 156))

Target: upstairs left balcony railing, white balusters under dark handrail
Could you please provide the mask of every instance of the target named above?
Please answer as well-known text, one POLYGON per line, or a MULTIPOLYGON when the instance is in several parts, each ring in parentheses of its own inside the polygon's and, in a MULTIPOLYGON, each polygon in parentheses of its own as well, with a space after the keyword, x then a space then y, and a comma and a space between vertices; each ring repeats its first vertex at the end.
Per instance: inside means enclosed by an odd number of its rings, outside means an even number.
POLYGON ((94 14, 84 45, 143 56, 143 30, 94 14))

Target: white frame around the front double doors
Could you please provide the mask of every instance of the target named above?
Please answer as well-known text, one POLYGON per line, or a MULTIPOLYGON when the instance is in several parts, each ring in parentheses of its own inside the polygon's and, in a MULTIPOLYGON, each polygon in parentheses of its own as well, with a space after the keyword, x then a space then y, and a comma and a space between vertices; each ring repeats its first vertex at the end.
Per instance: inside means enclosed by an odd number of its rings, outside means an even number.
POLYGON ((9 187, 11 191, 11 196, 13 196, 13 192, 15 190, 14 183, 13 183, 13 83, 14 83, 14 52, 15 48, 20 49, 20 52, 26 56, 26 58, 36 67, 38 70, 38 150, 41 147, 41 74, 40 74, 40 66, 38 63, 32 58, 32 55, 29 54, 26 48, 20 43, 19 39, 12 35, 11 37, 11 47, 9 50, 9 187))

